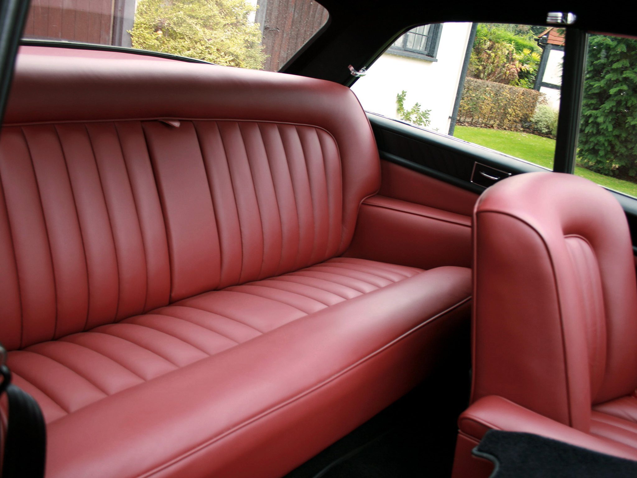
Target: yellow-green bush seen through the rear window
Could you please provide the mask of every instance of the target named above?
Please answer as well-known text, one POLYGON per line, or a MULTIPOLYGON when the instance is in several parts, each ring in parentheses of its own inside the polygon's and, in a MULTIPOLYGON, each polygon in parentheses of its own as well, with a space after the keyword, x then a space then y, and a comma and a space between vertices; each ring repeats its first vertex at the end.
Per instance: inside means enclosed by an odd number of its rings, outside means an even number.
POLYGON ((212 63, 262 67, 266 55, 255 8, 246 0, 140 0, 132 46, 212 63))

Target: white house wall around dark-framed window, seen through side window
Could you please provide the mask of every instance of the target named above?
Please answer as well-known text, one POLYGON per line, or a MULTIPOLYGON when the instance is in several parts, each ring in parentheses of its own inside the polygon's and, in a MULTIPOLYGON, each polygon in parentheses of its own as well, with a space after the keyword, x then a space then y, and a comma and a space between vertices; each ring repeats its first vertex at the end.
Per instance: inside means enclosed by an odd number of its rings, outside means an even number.
POLYGON ((431 110, 429 127, 447 134, 470 31, 470 23, 443 24, 436 62, 381 55, 352 91, 366 110, 397 119, 396 95, 405 90, 405 108, 420 103, 431 110))

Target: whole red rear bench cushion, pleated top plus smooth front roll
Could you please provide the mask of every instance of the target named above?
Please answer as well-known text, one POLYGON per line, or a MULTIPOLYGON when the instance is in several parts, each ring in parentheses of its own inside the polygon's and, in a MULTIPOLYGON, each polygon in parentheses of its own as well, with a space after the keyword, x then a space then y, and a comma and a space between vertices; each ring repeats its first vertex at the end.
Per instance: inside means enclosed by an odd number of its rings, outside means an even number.
POLYGON ((13 351, 9 365, 47 418, 48 477, 276 476, 422 378, 470 287, 464 268, 330 259, 13 351), (285 456, 264 470, 272 453, 285 456))

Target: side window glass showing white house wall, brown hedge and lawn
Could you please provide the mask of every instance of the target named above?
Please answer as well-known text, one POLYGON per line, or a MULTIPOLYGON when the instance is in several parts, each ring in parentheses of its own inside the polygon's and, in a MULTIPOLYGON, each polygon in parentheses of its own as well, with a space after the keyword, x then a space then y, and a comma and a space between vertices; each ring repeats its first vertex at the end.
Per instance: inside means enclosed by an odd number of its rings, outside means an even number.
POLYGON ((557 28, 422 25, 352 90, 369 112, 552 170, 565 43, 557 28))

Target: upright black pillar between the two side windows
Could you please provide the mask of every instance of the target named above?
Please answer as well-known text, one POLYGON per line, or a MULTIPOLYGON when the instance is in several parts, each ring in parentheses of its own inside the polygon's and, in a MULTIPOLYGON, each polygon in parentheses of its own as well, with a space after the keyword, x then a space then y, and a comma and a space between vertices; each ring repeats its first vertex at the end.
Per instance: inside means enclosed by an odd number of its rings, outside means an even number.
POLYGON ((553 162, 553 170, 558 173, 572 174, 575 171, 587 43, 588 36, 584 31, 576 28, 566 29, 562 85, 567 87, 561 89, 553 162))

